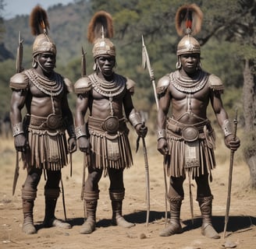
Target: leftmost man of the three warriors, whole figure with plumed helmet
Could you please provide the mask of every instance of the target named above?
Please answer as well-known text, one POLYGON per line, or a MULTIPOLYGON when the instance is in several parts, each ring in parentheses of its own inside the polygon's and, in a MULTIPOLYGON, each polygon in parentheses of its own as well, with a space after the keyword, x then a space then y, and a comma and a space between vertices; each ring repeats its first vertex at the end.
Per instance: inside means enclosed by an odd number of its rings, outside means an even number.
POLYGON ((56 47, 48 37, 48 16, 40 5, 30 14, 33 62, 30 69, 18 72, 10 79, 12 89, 10 118, 16 151, 22 153, 27 178, 22 187, 23 232, 37 233, 33 221, 37 184, 44 171, 45 215, 44 227, 70 228, 55 218, 59 198, 61 169, 68 163, 68 153, 76 151, 73 115, 67 94, 72 90, 69 79, 54 71, 56 47), (22 117, 23 107, 27 114, 22 117), (66 131, 69 141, 66 141, 66 131))

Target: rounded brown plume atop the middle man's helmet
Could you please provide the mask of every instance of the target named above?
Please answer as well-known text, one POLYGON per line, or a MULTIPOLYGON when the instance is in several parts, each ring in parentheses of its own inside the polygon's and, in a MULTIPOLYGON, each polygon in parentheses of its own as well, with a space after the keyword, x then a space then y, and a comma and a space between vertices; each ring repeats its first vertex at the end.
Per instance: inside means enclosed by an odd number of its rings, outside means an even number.
POLYGON ((112 16, 103 10, 94 14, 87 31, 87 38, 91 44, 102 36, 105 38, 112 38, 114 36, 112 16))

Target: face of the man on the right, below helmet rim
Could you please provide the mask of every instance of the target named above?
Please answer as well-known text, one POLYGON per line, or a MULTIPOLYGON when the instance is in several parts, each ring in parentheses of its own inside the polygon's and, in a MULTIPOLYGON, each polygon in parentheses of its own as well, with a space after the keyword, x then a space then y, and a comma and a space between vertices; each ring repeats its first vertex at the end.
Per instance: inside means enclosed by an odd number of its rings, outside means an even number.
POLYGON ((182 65, 184 72, 186 72, 188 75, 196 72, 199 61, 200 61, 199 54, 180 55, 180 63, 182 65))

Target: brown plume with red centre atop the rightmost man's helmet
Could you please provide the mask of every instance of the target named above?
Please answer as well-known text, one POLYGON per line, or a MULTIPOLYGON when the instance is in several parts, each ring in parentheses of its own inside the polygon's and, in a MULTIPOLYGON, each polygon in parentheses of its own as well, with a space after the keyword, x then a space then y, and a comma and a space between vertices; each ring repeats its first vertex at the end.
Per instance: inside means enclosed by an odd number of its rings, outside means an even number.
POLYGON ((176 31, 179 36, 195 35, 201 31, 203 12, 196 4, 182 5, 176 12, 176 31))

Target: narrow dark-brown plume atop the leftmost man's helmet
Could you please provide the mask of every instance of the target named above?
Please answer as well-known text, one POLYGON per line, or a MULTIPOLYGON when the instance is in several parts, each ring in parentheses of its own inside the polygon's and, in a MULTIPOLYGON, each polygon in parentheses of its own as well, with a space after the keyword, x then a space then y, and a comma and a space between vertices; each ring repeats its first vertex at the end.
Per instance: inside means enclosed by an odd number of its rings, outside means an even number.
POLYGON ((47 13, 40 5, 35 6, 30 13, 30 28, 34 36, 40 33, 47 34, 50 29, 47 13))

